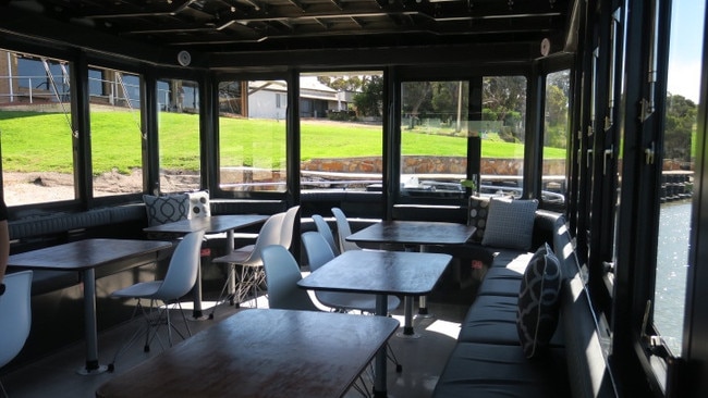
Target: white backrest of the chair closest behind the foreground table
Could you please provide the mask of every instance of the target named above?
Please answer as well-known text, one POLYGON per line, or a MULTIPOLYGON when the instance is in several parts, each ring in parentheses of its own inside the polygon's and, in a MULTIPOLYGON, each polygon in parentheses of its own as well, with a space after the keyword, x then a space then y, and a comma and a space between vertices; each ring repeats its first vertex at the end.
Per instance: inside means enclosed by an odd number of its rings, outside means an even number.
POLYGON ((303 276, 300 265, 288 249, 270 245, 263 249, 261 256, 266 269, 269 308, 319 311, 307 290, 297 286, 303 276))

